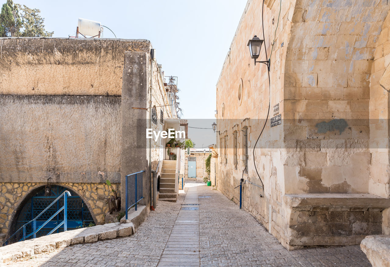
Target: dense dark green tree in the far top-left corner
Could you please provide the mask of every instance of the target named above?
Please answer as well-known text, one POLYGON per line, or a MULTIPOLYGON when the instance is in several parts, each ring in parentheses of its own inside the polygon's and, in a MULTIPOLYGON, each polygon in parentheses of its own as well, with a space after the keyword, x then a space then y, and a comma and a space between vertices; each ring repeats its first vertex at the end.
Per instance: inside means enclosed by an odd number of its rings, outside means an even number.
POLYGON ((0 13, 0 36, 17 37, 20 36, 22 21, 19 14, 18 5, 12 0, 7 0, 3 4, 0 13))

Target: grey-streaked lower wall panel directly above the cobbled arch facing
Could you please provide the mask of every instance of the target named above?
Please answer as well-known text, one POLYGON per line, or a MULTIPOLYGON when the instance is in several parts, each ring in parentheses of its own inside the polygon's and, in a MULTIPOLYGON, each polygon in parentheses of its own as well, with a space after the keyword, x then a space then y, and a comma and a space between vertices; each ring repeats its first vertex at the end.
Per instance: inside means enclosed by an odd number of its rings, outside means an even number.
POLYGON ((121 98, 0 96, 0 181, 120 182, 121 98))

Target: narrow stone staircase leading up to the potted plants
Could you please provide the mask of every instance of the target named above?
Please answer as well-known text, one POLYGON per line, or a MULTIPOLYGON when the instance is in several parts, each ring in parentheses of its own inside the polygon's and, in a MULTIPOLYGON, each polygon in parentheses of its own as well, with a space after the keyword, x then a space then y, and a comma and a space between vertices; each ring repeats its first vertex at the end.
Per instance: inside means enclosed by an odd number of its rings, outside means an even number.
POLYGON ((176 202, 175 192, 176 160, 163 160, 163 169, 160 177, 159 200, 176 202))

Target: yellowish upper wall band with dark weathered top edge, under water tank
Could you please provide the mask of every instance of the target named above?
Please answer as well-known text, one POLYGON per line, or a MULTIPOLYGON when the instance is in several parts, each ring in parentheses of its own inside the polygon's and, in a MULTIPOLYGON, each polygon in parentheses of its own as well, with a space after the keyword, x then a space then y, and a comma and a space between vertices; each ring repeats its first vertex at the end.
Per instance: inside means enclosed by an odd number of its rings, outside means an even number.
POLYGON ((0 38, 0 94, 121 96, 125 51, 147 40, 0 38))

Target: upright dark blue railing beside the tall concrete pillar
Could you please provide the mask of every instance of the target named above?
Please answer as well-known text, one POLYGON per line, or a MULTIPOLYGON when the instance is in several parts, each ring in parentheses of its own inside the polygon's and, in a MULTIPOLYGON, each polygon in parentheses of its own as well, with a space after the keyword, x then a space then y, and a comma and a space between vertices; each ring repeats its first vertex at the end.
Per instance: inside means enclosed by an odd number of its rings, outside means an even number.
POLYGON ((133 173, 126 175, 126 220, 128 210, 135 206, 135 210, 137 210, 137 203, 144 198, 143 192, 143 180, 142 174, 145 171, 139 171, 138 173, 133 173))

